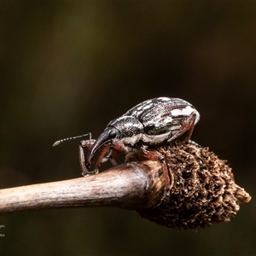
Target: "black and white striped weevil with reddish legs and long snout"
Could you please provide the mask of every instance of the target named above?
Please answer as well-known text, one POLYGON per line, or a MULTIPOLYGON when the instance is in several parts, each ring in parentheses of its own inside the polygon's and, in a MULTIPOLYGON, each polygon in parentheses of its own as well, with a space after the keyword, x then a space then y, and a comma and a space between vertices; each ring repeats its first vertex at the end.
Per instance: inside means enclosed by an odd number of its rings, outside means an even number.
POLYGON ((88 133, 62 139, 55 142, 54 146, 69 139, 89 136, 89 140, 83 140, 79 145, 79 161, 85 176, 97 173, 101 163, 107 160, 116 165, 113 156, 128 154, 135 149, 142 149, 151 160, 162 160, 158 154, 151 154, 150 148, 170 144, 186 131, 183 142, 188 143, 199 119, 200 114, 189 102, 178 98, 157 97, 137 104, 110 121, 96 140, 91 139, 91 134, 88 133), (89 148, 85 157, 84 148, 89 148), (96 169, 89 172, 88 168, 97 151, 102 152, 96 160, 96 169))

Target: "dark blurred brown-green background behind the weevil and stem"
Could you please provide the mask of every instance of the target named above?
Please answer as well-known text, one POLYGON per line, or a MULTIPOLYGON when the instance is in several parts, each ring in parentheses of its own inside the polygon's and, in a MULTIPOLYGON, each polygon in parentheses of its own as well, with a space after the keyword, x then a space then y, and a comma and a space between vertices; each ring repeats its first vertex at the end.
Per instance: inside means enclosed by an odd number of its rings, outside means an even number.
MULTIPOLYGON (((155 96, 201 113, 192 139, 253 196, 229 223, 184 231, 115 208, 0 217, 1 255, 256 255, 256 6, 0 3, 0 188, 79 177, 79 140, 155 96)), ((106 167, 106 166, 105 166, 106 167)))

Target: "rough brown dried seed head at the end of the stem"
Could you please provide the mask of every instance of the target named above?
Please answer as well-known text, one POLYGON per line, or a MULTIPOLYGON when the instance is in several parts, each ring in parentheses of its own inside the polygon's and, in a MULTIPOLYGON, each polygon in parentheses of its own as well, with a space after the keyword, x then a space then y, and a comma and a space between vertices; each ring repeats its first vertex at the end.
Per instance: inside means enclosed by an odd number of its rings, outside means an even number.
POLYGON ((137 211, 142 218, 169 228, 200 229, 230 221, 239 205, 251 200, 226 161, 208 148, 175 143, 155 149, 165 155, 174 182, 157 207, 137 211))

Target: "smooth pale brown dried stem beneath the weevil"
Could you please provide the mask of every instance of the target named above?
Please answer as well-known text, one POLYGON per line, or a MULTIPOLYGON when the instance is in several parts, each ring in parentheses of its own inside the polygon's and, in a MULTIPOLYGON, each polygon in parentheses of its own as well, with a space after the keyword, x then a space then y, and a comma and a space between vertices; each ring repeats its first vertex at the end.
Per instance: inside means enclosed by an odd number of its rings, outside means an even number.
POLYGON ((0 214, 60 207, 154 207, 165 196, 165 183, 159 162, 131 162, 87 177, 2 189, 0 214))

